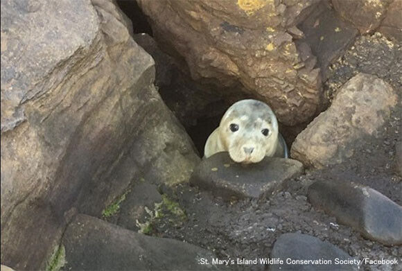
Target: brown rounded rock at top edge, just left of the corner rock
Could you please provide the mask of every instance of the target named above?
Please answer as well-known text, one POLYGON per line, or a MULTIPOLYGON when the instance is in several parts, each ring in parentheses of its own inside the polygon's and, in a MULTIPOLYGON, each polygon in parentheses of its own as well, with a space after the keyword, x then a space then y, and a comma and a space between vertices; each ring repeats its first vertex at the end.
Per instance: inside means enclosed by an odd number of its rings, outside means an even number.
POLYGON ((340 17, 350 21, 361 34, 372 32, 381 24, 392 0, 332 0, 340 17))

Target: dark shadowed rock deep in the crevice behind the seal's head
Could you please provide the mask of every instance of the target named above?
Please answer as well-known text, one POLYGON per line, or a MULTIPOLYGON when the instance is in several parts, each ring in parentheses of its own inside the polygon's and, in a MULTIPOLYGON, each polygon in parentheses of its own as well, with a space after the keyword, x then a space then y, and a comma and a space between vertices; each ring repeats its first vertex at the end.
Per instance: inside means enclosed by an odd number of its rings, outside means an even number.
POLYGON ((155 40, 147 34, 136 34, 134 40, 152 55, 156 66, 155 86, 159 94, 186 128, 198 153, 203 154, 205 141, 211 131, 219 126, 225 110, 247 96, 233 87, 225 88, 193 80, 189 72, 183 69, 187 65, 161 51, 155 40), (219 91, 230 93, 230 98, 224 99, 219 91))

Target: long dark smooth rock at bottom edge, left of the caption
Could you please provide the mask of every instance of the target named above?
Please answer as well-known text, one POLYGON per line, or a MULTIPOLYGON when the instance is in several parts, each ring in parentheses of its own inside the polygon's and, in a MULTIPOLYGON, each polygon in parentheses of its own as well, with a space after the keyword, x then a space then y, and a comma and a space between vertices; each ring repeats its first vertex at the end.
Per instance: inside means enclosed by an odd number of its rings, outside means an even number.
POLYGON ((78 215, 63 236, 65 270, 217 270, 200 265, 214 258, 200 247, 150 237, 86 215, 78 215))

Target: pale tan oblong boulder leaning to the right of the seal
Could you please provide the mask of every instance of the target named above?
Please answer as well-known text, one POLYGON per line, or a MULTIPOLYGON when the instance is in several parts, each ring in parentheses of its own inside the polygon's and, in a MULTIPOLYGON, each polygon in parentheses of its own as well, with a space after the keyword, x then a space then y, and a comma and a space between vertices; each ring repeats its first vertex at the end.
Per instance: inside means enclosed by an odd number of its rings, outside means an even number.
POLYGON ((338 90, 329 109, 296 137, 291 157, 315 168, 345 161, 364 137, 376 136, 396 101, 396 92, 387 82, 359 73, 338 90))

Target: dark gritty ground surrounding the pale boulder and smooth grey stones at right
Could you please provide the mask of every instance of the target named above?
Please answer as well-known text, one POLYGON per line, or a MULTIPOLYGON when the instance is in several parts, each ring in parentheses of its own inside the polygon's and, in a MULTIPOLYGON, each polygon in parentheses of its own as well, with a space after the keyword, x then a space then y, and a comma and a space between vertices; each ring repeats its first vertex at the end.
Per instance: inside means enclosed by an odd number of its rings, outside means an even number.
MULTIPOLYGON (((401 89, 402 48, 381 35, 359 37, 331 67, 326 94, 333 93, 358 72, 372 73, 401 89)), ((399 91, 401 94, 401 91, 399 91)), ((161 189, 175 199, 186 218, 175 215, 155 220, 153 234, 176 238, 216 252, 222 259, 254 259, 270 255, 283 233, 300 232, 329 241, 351 256, 370 259, 401 257, 401 246, 381 245, 311 206, 307 187, 317 180, 355 182, 380 191, 402 204, 402 179, 397 175, 396 144, 401 141, 401 104, 376 138, 360 146, 350 161, 306 174, 288 182, 284 191, 263 200, 225 201, 188 185, 161 189)), ((401 165, 399 165, 401 166, 401 165)), ((378 218, 381 219, 381 218, 378 218)), ((363 265, 363 270, 402 270, 399 265, 363 265)), ((240 265, 241 269, 247 269, 240 265)), ((252 265, 264 270, 261 265, 252 265)))

